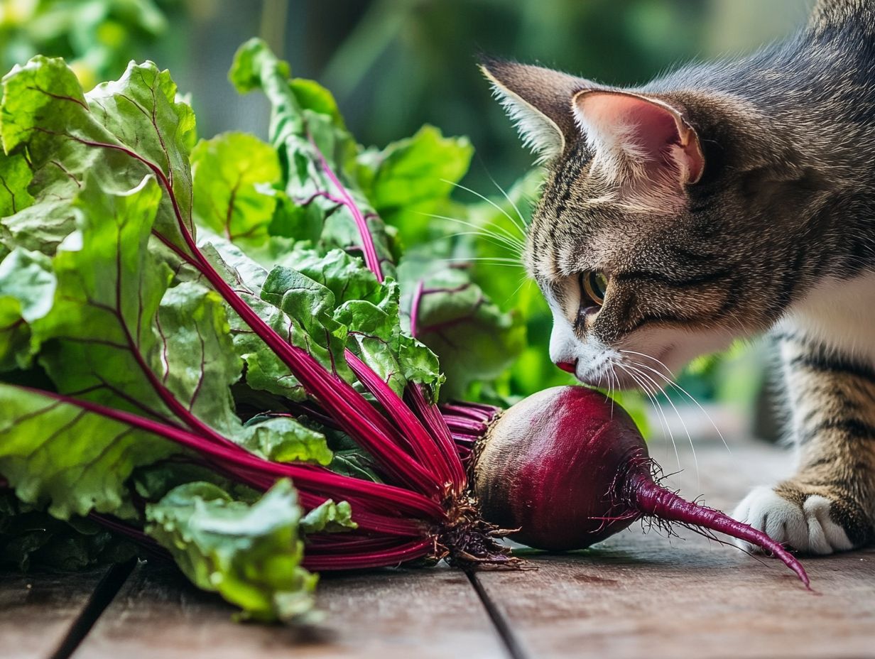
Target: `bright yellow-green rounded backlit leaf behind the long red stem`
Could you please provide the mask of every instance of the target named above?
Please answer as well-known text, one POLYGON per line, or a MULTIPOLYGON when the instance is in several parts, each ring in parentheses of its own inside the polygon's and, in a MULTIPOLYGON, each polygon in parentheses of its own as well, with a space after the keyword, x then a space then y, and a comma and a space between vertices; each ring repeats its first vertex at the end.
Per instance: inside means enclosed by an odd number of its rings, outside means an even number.
POLYGON ((279 158, 269 144, 245 133, 201 140, 192 151, 194 214, 230 242, 261 245, 276 208, 272 189, 279 158))

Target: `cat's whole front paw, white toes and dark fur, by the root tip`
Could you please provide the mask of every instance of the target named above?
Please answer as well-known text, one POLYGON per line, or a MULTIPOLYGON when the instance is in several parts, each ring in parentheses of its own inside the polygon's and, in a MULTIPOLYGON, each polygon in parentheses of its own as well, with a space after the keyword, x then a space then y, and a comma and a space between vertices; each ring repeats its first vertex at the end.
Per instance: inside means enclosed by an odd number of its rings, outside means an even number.
MULTIPOLYGON (((732 517, 795 550, 832 554, 859 546, 869 535, 867 522, 855 512, 856 508, 852 503, 837 503, 823 494, 783 484, 776 488, 755 487, 732 517)), ((746 551, 759 550, 743 541, 736 544, 746 551)))

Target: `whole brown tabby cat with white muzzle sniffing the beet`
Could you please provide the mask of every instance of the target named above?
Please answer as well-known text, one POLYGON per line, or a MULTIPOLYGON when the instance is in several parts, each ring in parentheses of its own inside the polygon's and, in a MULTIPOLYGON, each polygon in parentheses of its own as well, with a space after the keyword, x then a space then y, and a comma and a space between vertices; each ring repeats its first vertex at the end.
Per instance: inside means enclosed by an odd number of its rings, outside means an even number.
POLYGON ((550 358, 653 388, 771 330, 796 471, 733 516, 803 552, 872 542, 875 0, 821 0, 781 44, 638 88, 481 68, 546 169, 523 260, 550 358))

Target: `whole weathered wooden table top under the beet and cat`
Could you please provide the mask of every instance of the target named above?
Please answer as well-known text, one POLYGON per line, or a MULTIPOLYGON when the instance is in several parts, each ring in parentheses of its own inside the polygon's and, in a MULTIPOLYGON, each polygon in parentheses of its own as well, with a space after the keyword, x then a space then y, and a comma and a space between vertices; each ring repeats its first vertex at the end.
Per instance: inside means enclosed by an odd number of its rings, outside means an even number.
MULTIPOLYGON (((697 445, 698 483, 679 446, 685 494, 731 508, 787 471, 781 449, 730 445, 697 445)), ((310 629, 236 624, 168 565, 0 573, 0 657, 875 657, 875 550, 805 560, 807 592, 776 561, 677 531, 635 524, 595 549, 533 554, 530 571, 325 576, 327 616, 310 629)))

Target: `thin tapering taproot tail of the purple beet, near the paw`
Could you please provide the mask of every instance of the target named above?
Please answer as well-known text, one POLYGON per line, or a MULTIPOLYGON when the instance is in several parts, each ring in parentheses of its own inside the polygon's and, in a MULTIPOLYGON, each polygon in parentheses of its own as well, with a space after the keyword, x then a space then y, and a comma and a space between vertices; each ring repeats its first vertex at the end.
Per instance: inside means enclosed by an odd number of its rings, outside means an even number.
POLYGON ((793 554, 785 550, 781 543, 776 543, 762 531, 738 522, 714 508, 682 499, 674 492, 657 485, 646 472, 630 473, 626 480, 626 488, 630 506, 644 515, 654 515, 669 522, 681 522, 689 526, 711 529, 739 540, 746 540, 760 549, 771 551, 788 568, 795 571, 806 587, 809 587, 809 575, 805 573, 802 564, 793 554))

